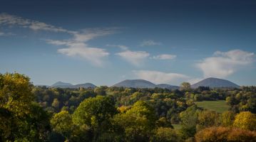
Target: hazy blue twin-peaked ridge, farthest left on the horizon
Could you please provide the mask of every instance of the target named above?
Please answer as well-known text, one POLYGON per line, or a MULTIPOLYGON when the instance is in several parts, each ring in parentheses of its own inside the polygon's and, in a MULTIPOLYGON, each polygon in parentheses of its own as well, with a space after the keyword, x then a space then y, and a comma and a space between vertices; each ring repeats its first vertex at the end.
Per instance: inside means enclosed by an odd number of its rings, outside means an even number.
POLYGON ((84 84, 71 84, 71 83, 66 83, 66 82, 56 82, 54 84, 52 84, 50 87, 54 87, 54 88, 79 88, 79 87, 83 87, 83 88, 95 88, 96 85, 91 84, 91 83, 84 83, 84 84))

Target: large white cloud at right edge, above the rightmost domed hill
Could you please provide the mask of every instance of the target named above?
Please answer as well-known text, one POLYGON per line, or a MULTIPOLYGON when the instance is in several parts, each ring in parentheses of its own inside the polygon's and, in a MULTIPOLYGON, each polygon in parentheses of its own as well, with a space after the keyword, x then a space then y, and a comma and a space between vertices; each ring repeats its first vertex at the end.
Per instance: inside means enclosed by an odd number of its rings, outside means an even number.
POLYGON ((254 61, 254 57, 255 53, 243 50, 217 51, 213 57, 205 58, 196 65, 203 71, 204 77, 225 78, 242 67, 250 65, 254 61))

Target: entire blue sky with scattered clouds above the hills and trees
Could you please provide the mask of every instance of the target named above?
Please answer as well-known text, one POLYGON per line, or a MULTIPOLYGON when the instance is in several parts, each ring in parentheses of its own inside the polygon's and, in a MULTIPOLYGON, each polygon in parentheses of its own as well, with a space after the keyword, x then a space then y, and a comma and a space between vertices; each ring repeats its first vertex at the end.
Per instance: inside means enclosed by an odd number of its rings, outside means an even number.
POLYGON ((0 73, 45 85, 207 77, 256 85, 255 7, 250 0, 1 0, 0 73))

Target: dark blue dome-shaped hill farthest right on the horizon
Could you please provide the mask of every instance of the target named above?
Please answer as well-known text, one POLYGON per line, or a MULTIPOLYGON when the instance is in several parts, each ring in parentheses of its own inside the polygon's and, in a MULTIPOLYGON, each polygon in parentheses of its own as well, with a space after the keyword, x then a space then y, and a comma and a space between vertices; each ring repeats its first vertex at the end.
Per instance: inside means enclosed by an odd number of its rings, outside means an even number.
POLYGON ((231 88, 239 88, 240 86, 230 82, 228 80, 223 80, 219 78, 210 77, 205 80, 201 80, 200 82, 197 82, 193 85, 191 85, 192 88, 198 88, 200 86, 203 87, 210 87, 210 88, 220 88, 220 87, 231 87, 231 88))

